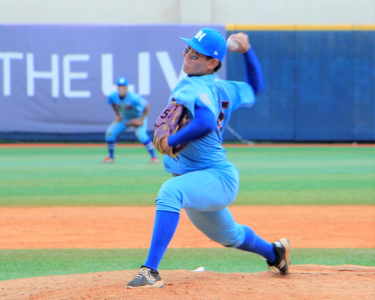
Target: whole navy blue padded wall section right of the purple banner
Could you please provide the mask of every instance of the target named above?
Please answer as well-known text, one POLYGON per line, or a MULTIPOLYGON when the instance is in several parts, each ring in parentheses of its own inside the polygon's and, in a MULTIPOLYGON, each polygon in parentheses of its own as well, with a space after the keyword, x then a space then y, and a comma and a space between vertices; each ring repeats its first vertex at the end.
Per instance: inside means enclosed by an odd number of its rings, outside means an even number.
MULTIPOLYGON (((266 90, 229 122, 243 138, 375 140, 375 31, 244 32, 262 65, 266 90)), ((245 79, 238 53, 228 53, 227 79, 245 79)), ((234 138, 229 132, 223 137, 234 138)))

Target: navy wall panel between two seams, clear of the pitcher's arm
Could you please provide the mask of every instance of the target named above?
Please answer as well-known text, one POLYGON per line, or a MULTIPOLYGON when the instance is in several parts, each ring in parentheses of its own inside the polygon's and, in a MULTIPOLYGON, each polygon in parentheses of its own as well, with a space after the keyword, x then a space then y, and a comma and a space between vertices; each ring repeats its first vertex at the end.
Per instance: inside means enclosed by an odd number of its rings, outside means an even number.
POLYGON ((353 31, 295 35, 294 139, 353 139, 353 31))

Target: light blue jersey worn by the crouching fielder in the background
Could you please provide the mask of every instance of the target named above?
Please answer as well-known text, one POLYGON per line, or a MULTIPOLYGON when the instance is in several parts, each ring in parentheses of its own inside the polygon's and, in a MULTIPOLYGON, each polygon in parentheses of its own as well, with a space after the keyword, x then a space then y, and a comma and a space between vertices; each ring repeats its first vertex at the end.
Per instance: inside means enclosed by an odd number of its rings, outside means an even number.
POLYGON ((121 100, 118 92, 115 91, 108 96, 108 104, 115 104, 123 121, 131 120, 133 118, 140 118, 147 101, 136 93, 126 93, 126 97, 121 100))

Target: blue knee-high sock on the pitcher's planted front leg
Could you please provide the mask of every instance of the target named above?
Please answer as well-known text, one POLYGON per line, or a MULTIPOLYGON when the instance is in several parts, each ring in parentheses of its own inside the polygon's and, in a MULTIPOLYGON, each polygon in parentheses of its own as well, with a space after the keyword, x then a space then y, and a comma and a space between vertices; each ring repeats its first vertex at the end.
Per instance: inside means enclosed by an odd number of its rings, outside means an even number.
POLYGON ((148 251, 144 266, 157 270, 166 248, 176 231, 179 220, 179 213, 163 210, 156 211, 150 250, 148 251))

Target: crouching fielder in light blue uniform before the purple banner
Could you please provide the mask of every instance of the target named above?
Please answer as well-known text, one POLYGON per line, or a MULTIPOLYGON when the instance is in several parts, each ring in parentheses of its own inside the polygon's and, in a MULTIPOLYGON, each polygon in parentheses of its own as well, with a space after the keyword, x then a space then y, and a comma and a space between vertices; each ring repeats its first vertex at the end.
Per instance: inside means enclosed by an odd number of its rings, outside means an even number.
POLYGON ((127 78, 117 79, 117 91, 108 96, 108 104, 112 105, 115 120, 105 133, 109 156, 103 163, 114 163, 114 148, 117 136, 129 127, 135 127, 135 135, 144 144, 151 155, 150 163, 158 163, 153 143, 147 134, 147 114, 150 104, 136 93, 128 91, 127 78))

